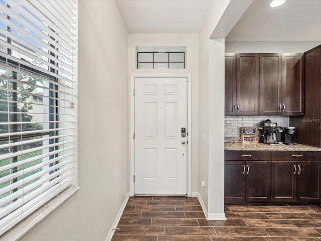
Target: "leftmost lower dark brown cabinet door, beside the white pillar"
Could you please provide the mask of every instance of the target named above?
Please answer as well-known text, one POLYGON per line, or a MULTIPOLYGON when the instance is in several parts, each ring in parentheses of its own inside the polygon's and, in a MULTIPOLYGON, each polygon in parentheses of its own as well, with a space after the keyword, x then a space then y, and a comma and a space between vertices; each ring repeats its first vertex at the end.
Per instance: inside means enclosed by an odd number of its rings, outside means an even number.
POLYGON ((225 161, 225 202, 245 201, 245 163, 225 161))

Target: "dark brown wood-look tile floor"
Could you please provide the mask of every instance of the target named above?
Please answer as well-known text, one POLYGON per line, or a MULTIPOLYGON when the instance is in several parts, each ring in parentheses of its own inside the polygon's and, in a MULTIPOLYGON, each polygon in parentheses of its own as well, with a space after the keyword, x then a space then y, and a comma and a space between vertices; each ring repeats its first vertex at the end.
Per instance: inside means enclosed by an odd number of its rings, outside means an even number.
POLYGON ((226 204, 227 220, 206 220, 197 197, 130 197, 112 241, 321 241, 313 204, 226 204))

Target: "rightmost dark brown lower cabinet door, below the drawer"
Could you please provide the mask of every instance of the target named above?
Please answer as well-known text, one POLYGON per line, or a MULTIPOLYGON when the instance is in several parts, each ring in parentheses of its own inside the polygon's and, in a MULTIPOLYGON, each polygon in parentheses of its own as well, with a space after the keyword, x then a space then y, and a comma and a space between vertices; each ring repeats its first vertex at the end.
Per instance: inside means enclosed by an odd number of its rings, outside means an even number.
POLYGON ((297 201, 320 201, 320 162, 297 162, 297 201))

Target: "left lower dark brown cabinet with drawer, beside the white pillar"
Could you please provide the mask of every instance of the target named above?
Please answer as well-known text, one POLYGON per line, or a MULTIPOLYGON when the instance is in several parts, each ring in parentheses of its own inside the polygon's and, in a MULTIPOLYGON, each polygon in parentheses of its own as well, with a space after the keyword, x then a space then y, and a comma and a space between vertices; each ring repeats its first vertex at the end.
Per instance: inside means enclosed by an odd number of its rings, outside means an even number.
POLYGON ((225 152, 225 202, 270 201, 270 180, 270 152, 225 152))

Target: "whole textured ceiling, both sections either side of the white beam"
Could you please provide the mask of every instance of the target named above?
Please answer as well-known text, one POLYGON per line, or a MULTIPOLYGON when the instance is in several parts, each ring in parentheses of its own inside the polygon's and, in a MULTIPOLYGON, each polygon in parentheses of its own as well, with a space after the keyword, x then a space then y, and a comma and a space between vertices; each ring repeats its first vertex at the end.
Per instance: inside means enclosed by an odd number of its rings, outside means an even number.
MULTIPOLYGON (((226 41, 321 41, 321 0, 271 1, 254 0, 226 41)), ((211 2, 116 0, 128 33, 147 34, 199 33, 211 2)))

